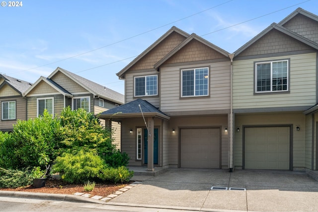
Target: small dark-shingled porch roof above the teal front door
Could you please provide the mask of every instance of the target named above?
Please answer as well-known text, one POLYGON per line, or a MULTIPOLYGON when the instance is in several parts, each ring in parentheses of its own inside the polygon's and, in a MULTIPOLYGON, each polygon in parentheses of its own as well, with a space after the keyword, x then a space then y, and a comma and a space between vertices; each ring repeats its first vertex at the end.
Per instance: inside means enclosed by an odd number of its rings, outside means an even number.
POLYGON ((136 99, 129 103, 106 110, 100 114, 100 118, 142 117, 141 110, 145 117, 159 117, 166 120, 170 119, 170 117, 158 110, 157 107, 143 99, 136 99))

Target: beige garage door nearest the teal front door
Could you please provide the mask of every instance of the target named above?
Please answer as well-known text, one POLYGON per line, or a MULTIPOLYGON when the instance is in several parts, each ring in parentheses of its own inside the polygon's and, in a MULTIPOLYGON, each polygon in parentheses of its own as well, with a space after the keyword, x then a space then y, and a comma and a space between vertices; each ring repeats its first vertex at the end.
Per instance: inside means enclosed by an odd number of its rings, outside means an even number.
POLYGON ((181 129, 180 163, 184 168, 220 168, 220 129, 181 129))

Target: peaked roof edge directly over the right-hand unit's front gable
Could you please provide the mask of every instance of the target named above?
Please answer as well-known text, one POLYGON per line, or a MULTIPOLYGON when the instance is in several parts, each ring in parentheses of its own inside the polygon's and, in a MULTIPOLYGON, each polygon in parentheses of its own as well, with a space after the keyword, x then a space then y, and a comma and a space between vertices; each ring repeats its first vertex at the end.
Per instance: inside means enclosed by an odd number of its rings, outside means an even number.
POLYGON ((234 53, 234 57, 238 56, 241 52, 243 52, 245 49, 247 49, 248 47, 250 47, 253 43, 255 43, 256 41, 258 41, 260 38, 262 38, 264 35, 266 35, 269 31, 276 29, 300 42, 303 42, 309 46, 311 46, 314 49, 318 50, 318 44, 315 43, 314 41, 311 41, 289 29, 286 29, 285 27, 277 24, 277 23, 272 23, 269 27, 267 27, 266 29, 264 29, 261 33, 259 33, 258 35, 256 35, 253 39, 251 39, 250 41, 248 41, 246 44, 244 44, 242 47, 240 47, 235 53, 234 53))

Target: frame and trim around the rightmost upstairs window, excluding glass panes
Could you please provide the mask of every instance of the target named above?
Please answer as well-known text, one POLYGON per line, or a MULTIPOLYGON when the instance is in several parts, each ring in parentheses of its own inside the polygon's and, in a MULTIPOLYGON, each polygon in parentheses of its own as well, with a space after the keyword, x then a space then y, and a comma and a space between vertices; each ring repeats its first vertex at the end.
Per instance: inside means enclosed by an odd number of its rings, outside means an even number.
MULTIPOLYGON (((255 61, 254 62, 254 95, 262 94, 279 94, 279 93, 290 93, 290 58, 286 59, 275 59, 275 60, 266 60, 266 61, 255 61), (257 64, 266 64, 273 62, 283 62, 287 61, 287 90, 277 90, 277 91, 257 91, 257 64)), ((271 65, 271 89, 272 89, 272 65, 271 65)))

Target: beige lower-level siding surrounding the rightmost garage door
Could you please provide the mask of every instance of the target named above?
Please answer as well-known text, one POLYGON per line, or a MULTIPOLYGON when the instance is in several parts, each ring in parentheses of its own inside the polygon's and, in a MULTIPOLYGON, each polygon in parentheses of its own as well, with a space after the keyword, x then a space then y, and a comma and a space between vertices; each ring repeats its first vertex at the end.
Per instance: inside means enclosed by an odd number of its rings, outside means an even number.
POLYGON ((264 126, 264 125, 293 125, 293 167, 305 167, 305 116, 300 113, 273 113, 259 115, 236 115, 235 129, 238 127, 240 131, 235 131, 234 135, 234 165, 242 166, 243 153, 243 126, 264 126), (300 126, 300 131, 296 131, 296 126, 300 126))

